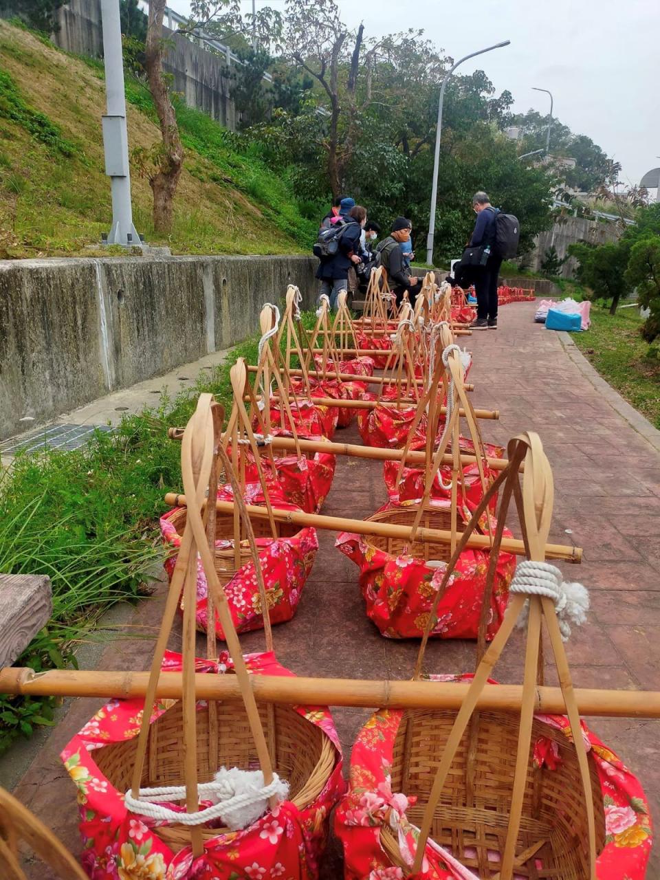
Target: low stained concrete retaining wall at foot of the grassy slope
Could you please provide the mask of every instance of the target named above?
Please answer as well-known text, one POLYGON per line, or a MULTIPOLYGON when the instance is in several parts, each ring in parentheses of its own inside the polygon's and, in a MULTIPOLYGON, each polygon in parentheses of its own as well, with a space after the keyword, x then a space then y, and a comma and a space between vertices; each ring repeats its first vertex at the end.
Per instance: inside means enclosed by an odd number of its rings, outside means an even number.
POLYGON ((253 334, 312 257, 0 260, 0 439, 253 334), (21 422, 26 416, 35 422, 21 422))

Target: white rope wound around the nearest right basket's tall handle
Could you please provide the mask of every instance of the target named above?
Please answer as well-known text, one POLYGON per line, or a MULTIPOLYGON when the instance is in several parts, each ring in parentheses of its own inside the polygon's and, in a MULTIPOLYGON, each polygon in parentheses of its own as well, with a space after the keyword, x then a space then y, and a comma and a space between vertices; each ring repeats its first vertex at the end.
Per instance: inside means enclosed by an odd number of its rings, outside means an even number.
MULTIPOLYGON (((561 571, 549 562, 523 560, 516 566, 516 574, 510 585, 511 593, 527 596, 545 596, 554 602, 557 622, 564 642, 570 635, 570 624, 581 626, 587 620, 589 592, 582 583, 567 583, 561 571)), ((529 601, 518 619, 518 627, 524 627, 529 615, 529 601)))

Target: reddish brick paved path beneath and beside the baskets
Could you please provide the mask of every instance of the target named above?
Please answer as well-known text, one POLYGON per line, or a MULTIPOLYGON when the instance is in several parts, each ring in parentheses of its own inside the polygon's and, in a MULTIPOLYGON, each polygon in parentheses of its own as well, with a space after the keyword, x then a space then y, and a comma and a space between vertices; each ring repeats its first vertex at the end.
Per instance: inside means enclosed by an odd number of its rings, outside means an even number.
MULTIPOLYGON (((539 432, 554 467, 555 508, 551 540, 583 546, 581 567, 562 565, 569 580, 590 587, 587 626, 568 643, 576 686, 660 689, 660 458, 637 434, 561 347, 557 336, 534 325, 533 304, 510 304, 500 313, 501 328, 466 340, 474 352, 471 379, 476 406, 499 408, 500 422, 483 425, 484 438, 505 444, 517 431, 539 432)), ((354 427, 341 439, 359 442, 354 427)), ((334 487, 324 513, 366 517, 385 502, 378 464, 338 458, 334 487)), ((297 616, 275 628, 275 649, 283 664, 301 675, 353 678, 407 678, 415 642, 388 641, 363 611, 356 566, 334 549, 334 534, 319 534, 320 550, 297 616)), ((141 622, 158 624, 159 602, 143 603, 141 622)), ((260 634, 244 640, 259 649, 260 634)), ((172 647, 176 648, 176 640, 172 647)), ((502 682, 521 678, 520 636, 496 668, 502 682)), ((122 643, 108 649, 105 668, 145 668, 149 644, 122 643), (122 664, 120 667, 119 664, 122 664)), ((202 645, 200 649, 203 650, 202 645)), ((470 642, 432 642, 427 669, 470 671, 470 642)), ((554 683, 549 675, 548 684, 554 683)), ((98 701, 79 700, 55 730, 18 787, 18 796, 77 852, 73 786, 57 752, 92 714, 98 701)), ((367 710, 335 709, 347 752, 367 710)), ((659 722, 595 719, 591 726, 605 743, 640 774, 654 814, 660 817, 659 722)), ((47 880, 43 870, 33 877, 47 880)), ((323 877, 341 876, 334 841, 323 877)), ((656 855, 649 877, 660 876, 656 855)))

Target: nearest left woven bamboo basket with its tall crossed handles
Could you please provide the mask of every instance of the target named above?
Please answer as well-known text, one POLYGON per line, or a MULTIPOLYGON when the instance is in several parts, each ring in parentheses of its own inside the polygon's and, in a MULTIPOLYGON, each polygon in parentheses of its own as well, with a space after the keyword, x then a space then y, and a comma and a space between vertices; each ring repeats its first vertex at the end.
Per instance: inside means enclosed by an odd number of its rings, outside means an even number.
MULTIPOLYGON (((261 607, 266 608, 266 590, 260 572, 253 524, 247 515, 243 495, 231 461, 220 442, 221 407, 212 403, 209 394, 202 394, 195 414, 188 423, 183 437, 181 470, 187 493, 186 532, 180 551, 180 559, 172 577, 165 607, 163 625, 158 636, 150 683, 145 705, 153 703, 160 674, 165 646, 171 633, 174 611, 181 587, 184 595, 183 620, 183 699, 172 700, 171 705, 157 720, 150 722, 143 717, 140 736, 126 742, 108 744, 94 752, 94 760, 101 771, 118 791, 181 786, 186 796, 187 811, 197 810, 197 786, 209 781, 220 766, 238 766, 241 769, 261 769, 265 784, 273 778, 273 771, 290 782, 290 800, 303 810, 309 807, 326 787, 337 765, 338 752, 331 739, 318 725, 305 719, 288 705, 257 702, 254 699, 249 676, 240 650, 236 630, 231 623, 227 599, 211 561, 213 544, 209 517, 214 507, 205 505, 208 494, 215 495, 214 487, 220 468, 233 488, 235 504, 246 532, 246 544, 254 563, 261 596, 261 607), (212 446, 213 451, 209 451, 212 446), (216 460, 219 459, 219 462, 216 460), (194 500, 194 507, 191 501, 194 500), (206 522, 201 510, 205 509, 206 522), (199 553, 209 583, 209 619, 214 605, 224 627, 225 638, 233 661, 233 674, 241 686, 240 700, 219 702, 209 700, 197 704, 194 696, 194 559, 199 553), (191 810, 191 804, 195 806, 191 810)), ((220 518, 220 517, 218 517, 220 518)), ((183 524, 183 520, 180 520, 183 524)), ((221 527, 222 528, 222 527, 221 527)), ((224 560, 224 555, 221 557, 224 560)), ((231 568, 224 568, 219 574, 231 568)), ((268 614, 264 615, 266 648, 273 649, 272 630, 268 614)), ((209 657, 216 657, 216 641, 212 627, 207 634, 209 657)), ((231 673, 225 673, 231 674, 231 673)), ((275 803, 271 802, 271 807, 275 803)), ((216 823, 219 824, 216 820, 216 823)), ((183 847, 193 847, 193 854, 202 854, 204 842, 216 838, 228 829, 178 824, 170 820, 158 825, 154 833, 178 852, 183 847)))

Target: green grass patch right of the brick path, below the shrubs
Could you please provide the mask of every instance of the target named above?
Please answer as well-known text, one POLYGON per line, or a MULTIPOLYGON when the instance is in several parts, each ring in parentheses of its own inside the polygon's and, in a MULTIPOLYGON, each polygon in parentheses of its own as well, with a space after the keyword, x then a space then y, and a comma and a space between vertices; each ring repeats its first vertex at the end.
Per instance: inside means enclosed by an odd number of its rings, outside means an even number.
POLYGON ((636 308, 610 315, 592 306, 589 331, 573 338, 612 388, 660 429, 660 351, 642 339, 642 323, 636 308))

